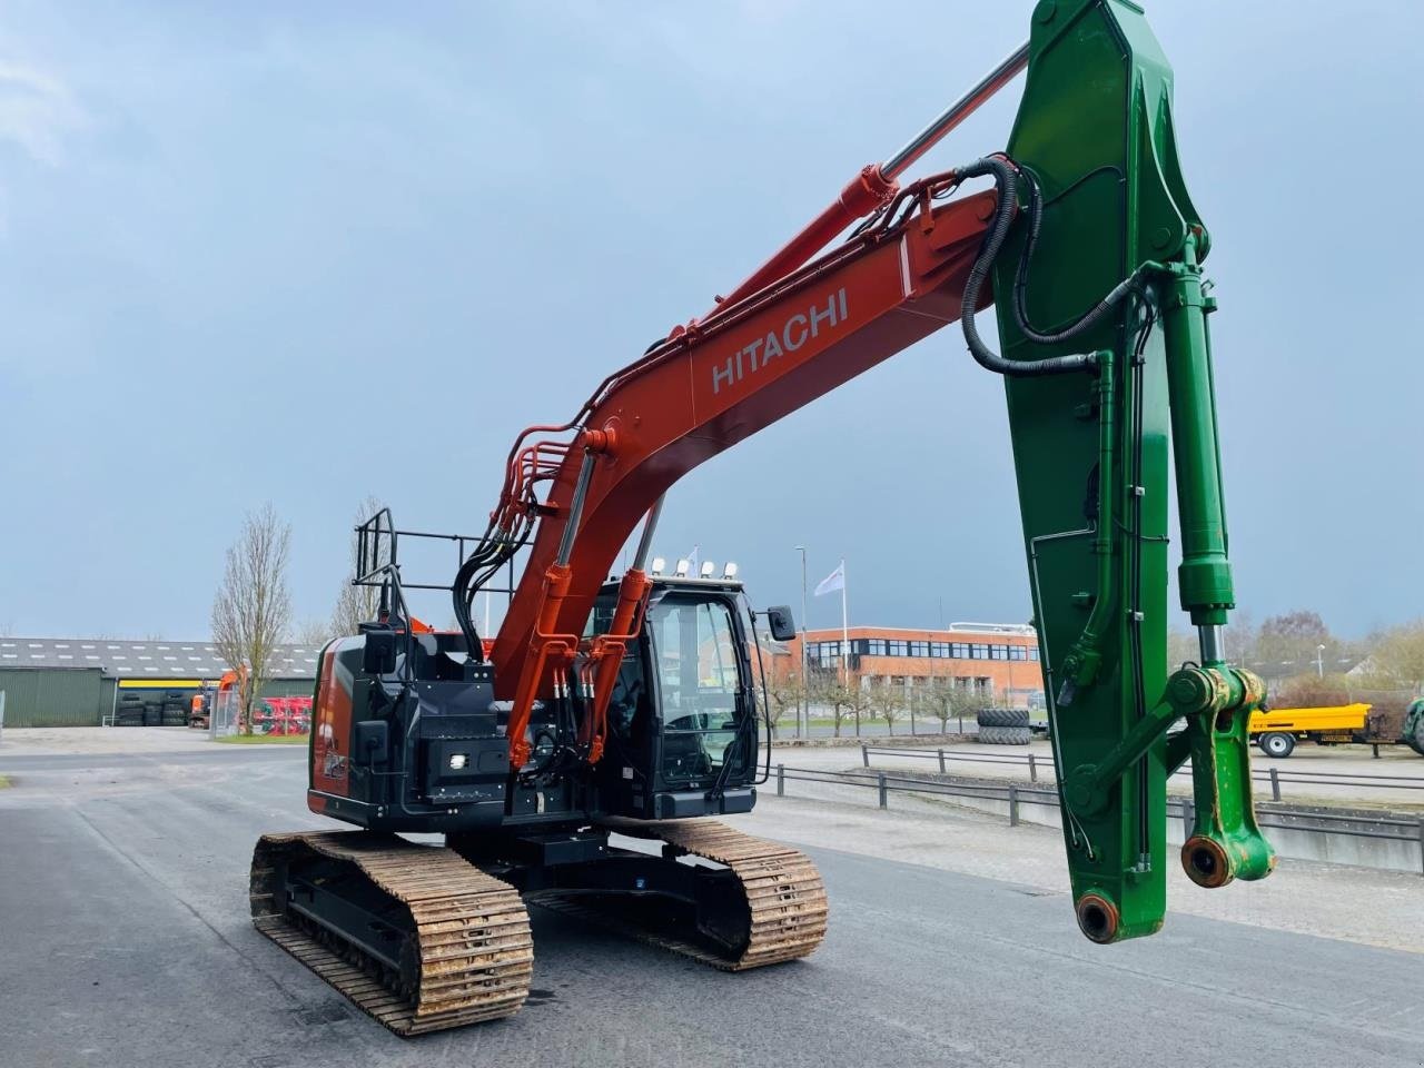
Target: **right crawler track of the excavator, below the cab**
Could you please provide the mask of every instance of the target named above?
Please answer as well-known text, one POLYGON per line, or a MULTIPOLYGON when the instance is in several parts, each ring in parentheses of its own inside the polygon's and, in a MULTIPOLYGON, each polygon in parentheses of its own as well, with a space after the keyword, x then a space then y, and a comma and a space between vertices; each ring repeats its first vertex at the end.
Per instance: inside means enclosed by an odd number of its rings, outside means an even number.
POLYGON ((535 904, 590 920, 639 941, 722 971, 748 971, 806 957, 826 937, 830 911, 820 871, 800 850, 733 830, 718 820, 644 823, 604 820, 611 832, 664 843, 665 856, 689 854, 729 869, 746 899, 746 938, 735 954, 631 921, 598 907, 597 899, 535 896, 535 904))

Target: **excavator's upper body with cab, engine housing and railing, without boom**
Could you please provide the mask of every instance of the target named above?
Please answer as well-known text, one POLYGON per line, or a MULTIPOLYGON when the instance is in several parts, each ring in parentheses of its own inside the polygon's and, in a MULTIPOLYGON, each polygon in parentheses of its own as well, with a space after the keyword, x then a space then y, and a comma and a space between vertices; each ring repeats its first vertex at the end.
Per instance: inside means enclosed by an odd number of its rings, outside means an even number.
MULTIPOLYGON (((379 585, 377 618, 330 642, 313 701, 308 805, 384 832, 565 829, 600 819, 662 820, 750 812, 756 803, 756 617, 732 575, 652 575, 642 625, 619 649, 607 748, 590 743, 591 664, 625 595, 611 580, 594 600, 578 652, 551 691, 513 722, 486 656, 464 635, 416 621, 389 508, 357 528, 359 584, 379 585), (523 740, 527 756, 513 756, 523 740)), ((787 608, 766 612, 773 637, 795 634, 787 608)))

